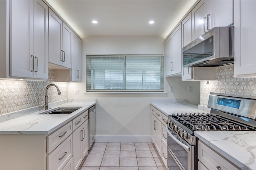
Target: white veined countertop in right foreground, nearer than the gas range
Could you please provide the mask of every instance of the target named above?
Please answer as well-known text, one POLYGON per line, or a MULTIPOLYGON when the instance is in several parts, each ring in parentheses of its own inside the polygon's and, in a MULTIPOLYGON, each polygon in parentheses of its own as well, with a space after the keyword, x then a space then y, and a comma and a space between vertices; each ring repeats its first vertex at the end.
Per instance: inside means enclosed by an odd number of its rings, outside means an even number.
POLYGON ((242 170, 256 170, 256 132, 197 131, 194 135, 242 170))

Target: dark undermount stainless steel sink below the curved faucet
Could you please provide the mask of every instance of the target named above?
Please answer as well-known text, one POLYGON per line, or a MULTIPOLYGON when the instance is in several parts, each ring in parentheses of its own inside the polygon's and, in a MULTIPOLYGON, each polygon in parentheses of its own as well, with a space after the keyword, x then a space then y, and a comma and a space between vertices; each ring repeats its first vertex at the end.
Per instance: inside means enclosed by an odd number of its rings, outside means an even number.
POLYGON ((57 107, 55 109, 47 110, 42 113, 39 113, 40 115, 68 115, 81 107, 57 107))

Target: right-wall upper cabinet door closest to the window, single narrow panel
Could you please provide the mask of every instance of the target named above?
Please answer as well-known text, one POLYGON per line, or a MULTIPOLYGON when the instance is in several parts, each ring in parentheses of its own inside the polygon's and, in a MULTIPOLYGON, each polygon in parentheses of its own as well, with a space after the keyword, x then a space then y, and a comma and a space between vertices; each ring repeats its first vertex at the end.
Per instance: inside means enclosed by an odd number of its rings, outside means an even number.
POLYGON ((171 65, 172 62, 172 35, 165 41, 165 76, 172 74, 171 65))

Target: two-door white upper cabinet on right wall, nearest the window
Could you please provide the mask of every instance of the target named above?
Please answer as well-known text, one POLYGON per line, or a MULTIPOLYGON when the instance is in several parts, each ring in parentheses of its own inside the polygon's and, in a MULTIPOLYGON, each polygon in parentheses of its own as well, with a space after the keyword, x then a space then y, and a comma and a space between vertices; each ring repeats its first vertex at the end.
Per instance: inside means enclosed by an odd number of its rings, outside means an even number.
POLYGON ((165 42, 166 76, 180 76, 181 74, 181 24, 174 29, 165 42))

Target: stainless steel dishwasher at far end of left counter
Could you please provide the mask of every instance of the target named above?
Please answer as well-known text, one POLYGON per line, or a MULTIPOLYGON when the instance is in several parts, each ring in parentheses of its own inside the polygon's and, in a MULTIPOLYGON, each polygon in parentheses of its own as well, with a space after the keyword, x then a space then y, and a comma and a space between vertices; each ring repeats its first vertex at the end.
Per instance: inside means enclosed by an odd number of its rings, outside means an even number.
POLYGON ((96 127, 96 107, 95 105, 89 109, 89 150, 95 141, 96 127))

